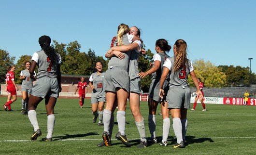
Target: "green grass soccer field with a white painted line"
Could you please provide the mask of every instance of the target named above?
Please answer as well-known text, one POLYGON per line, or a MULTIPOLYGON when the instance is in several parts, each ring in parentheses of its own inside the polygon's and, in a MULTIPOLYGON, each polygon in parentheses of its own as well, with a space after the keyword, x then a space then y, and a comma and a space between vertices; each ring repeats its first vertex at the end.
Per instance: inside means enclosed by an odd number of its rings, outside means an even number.
MULTIPOLYGON (((0 103, 6 103, 7 97, 0 97, 0 103)), ((1 106, 2 106, 1 104, 1 106)), ((193 106, 191 104, 191 106, 193 106)), ((102 141, 103 126, 92 123, 90 100, 85 100, 80 108, 79 99, 58 99, 55 107, 55 130, 53 142, 40 142, 47 134, 47 116, 44 100, 37 108, 37 117, 42 136, 30 141, 33 128, 28 116, 21 115, 21 98, 12 104, 14 112, 0 110, 0 154, 88 154, 88 155, 166 155, 166 154, 256 154, 256 106, 206 104, 202 112, 201 104, 196 111, 188 111, 187 146, 184 149, 173 148, 175 135, 170 129, 168 146, 160 146, 162 135, 162 117, 156 116, 156 136, 158 143, 138 149, 139 133, 135 126, 129 106, 126 117, 126 134, 131 147, 112 139, 113 146, 97 147, 102 141)), ((148 107, 141 103, 142 116, 145 119, 146 135, 148 129, 148 107)), ((158 106, 157 114, 160 112, 158 106)), ((116 112, 115 112, 116 113, 116 112)), ((116 115, 115 115, 116 116, 116 115)), ((172 123, 171 123, 172 124, 172 123)), ((113 138, 118 131, 116 118, 113 138)))

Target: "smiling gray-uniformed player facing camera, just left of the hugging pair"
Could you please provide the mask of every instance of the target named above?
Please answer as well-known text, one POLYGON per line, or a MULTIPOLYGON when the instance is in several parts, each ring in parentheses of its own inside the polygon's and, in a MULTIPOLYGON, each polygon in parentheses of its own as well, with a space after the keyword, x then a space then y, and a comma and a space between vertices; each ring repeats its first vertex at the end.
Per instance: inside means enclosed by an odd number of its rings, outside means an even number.
POLYGON ((103 119, 104 104, 106 102, 106 93, 105 90, 103 90, 103 80, 105 72, 102 71, 102 64, 99 61, 96 62, 95 68, 97 72, 92 73, 89 78, 89 86, 92 88, 92 114, 94 115, 92 122, 96 123, 97 118, 99 116, 98 125, 101 126, 101 121, 103 119), (99 113, 97 110, 99 110, 99 113))

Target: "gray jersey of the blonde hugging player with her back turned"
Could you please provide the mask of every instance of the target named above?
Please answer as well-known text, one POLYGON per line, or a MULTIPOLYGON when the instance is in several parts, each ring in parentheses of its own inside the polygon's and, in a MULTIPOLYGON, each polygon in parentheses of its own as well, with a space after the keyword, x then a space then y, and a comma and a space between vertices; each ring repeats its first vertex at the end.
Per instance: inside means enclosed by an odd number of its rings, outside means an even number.
MULTIPOLYGON (((129 41, 128 41, 127 35, 123 36, 122 41, 123 41, 124 45, 129 45, 130 44, 129 41)), ((117 44, 117 39, 114 40, 114 46, 116 46, 116 44, 117 44)), ((125 54, 125 59, 120 60, 116 56, 113 56, 109 60, 109 63, 108 63, 109 68, 111 68, 111 67, 121 67, 121 68, 124 68, 128 71, 131 51, 122 52, 122 53, 125 54)))

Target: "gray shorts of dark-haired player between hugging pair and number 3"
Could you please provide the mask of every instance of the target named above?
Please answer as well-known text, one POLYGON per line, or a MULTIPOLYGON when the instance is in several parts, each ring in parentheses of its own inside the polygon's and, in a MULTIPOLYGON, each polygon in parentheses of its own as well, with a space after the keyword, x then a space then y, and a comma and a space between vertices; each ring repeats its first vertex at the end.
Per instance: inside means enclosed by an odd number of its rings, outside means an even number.
POLYGON ((150 87, 149 87, 149 91, 148 91, 148 97, 150 97, 151 99, 160 102, 160 101, 166 101, 166 94, 168 92, 169 86, 168 86, 168 81, 165 80, 164 85, 163 85, 163 89, 164 89, 164 98, 163 100, 160 98, 159 96, 159 89, 160 89, 160 80, 159 79, 153 79, 150 87))

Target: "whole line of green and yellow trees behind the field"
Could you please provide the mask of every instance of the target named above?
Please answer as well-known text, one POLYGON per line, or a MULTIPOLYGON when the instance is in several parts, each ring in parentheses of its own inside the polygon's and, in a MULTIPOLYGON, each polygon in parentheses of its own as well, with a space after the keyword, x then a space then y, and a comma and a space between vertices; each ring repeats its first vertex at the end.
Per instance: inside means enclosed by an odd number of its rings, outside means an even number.
MULTIPOLYGON (((51 45, 61 56, 61 73, 65 75, 91 75, 95 72, 95 63, 100 61, 103 65, 103 70, 108 68, 108 60, 102 56, 97 56, 91 49, 88 52, 81 52, 81 45, 77 41, 69 44, 58 43, 56 40, 51 45)), ((145 45, 143 45, 145 49, 145 45)), ((154 53, 150 49, 139 57, 138 66, 140 72, 146 72, 150 69, 150 64, 153 62, 154 53)), ((171 53, 169 53, 172 56, 171 53)), ((10 56, 9 52, 0 49, 0 83, 5 83, 5 75, 8 67, 16 66, 15 82, 21 84, 20 72, 25 69, 25 62, 31 61, 31 55, 22 55, 14 64, 15 57, 10 56)), ((214 66, 211 62, 205 62, 203 59, 193 61, 196 76, 201 78, 205 87, 241 87, 249 86, 250 84, 250 68, 234 65, 219 65, 214 66)), ((192 79, 189 77, 188 82, 191 87, 194 87, 192 79)), ((142 79, 142 90, 148 92, 151 83, 151 76, 142 79)), ((256 84, 256 74, 252 73, 251 84, 256 84)))

